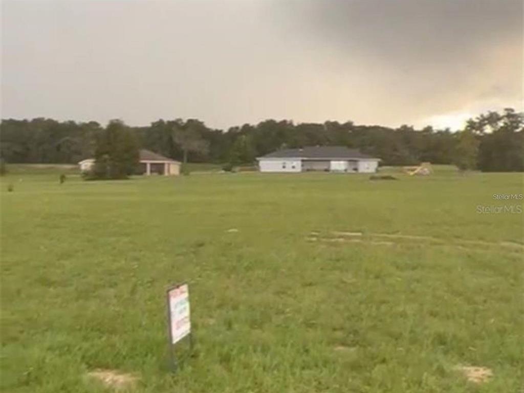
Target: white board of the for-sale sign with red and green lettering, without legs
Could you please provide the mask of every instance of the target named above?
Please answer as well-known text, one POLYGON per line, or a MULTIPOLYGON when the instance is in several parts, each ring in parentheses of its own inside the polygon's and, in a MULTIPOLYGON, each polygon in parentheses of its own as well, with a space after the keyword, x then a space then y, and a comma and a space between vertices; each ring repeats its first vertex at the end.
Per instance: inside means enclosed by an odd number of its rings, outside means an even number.
POLYGON ((168 291, 171 343, 177 343, 191 333, 189 319, 189 289, 187 284, 168 291))

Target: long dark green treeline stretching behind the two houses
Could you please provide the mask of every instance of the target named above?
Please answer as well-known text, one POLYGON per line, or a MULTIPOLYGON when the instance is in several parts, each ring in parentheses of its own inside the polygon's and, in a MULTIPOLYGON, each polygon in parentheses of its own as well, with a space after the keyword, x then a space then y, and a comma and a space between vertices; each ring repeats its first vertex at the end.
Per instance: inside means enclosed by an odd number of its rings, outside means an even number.
MULTIPOLYGON (((524 116, 508 108, 504 113, 488 112, 471 119, 464 130, 432 127, 414 129, 356 125, 352 122, 294 124, 266 120, 256 125, 231 127, 226 132, 207 127, 198 119, 158 120, 147 127, 127 128, 138 146, 182 160, 180 136, 200 141, 199 148, 186 149, 190 162, 250 164, 256 157, 281 148, 342 145, 379 157, 381 165, 414 165, 460 162, 473 157, 473 168, 484 171, 524 169, 524 116), (467 135, 470 138, 467 138, 467 135)), ((97 122, 58 122, 48 118, 2 119, 0 154, 7 163, 76 163, 93 157, 97 122)), ((187 139, 187 138, 186 138, 187 139)))

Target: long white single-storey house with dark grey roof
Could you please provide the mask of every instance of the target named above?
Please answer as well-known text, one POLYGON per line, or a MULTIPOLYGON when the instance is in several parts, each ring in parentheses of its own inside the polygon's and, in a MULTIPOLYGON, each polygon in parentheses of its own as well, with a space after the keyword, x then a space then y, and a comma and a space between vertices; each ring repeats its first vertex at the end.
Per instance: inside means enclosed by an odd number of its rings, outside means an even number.
POLYGON ((308 146, 284 149, 258 157, 260 172, 347 172, 374 173, 379 158, 345 146, 308 146))

